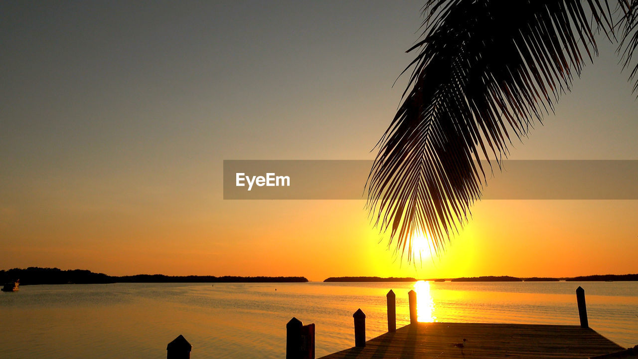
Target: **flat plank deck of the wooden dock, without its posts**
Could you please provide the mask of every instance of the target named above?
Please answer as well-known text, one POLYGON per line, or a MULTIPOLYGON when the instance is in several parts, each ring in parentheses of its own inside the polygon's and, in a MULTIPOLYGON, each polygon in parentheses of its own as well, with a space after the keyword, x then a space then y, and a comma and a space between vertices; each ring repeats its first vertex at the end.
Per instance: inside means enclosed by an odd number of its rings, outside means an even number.
POLYGON ((323 359, 590 358, 623 349, 578 325, 415 323, 323 359), (461 353, 454 344, 463 339, 461 353))

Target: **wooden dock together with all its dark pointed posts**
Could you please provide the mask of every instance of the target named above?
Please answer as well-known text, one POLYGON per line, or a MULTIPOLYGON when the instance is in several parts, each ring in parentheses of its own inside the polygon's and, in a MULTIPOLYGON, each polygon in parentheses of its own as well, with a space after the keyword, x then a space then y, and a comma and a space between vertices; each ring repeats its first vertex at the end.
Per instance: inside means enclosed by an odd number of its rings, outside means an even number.
MULTIPOLYGON (((621 348, 589 327, 585 291, 576 289, 580 325, 419 323, 417 293, 408 292, 410 325, 396 328, 396 295, 387 297, 388 332, 366 341, 366 314, 353 315, 354 344, 322 359, 638 359, 638 346, 621 348), (466 340, 464 340, 466 339, 466 340)), ((168 359, 188 359, 182 335, 168 343, 168 359)), ((286 359, 315 359, 315 325, 286 324, 286 359)))

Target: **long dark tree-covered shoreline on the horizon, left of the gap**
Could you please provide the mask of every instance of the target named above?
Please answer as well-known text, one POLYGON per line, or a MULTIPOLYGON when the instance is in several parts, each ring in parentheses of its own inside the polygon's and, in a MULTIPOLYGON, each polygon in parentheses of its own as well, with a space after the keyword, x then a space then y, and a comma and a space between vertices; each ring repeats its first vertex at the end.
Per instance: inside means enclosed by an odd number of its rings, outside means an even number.
POLYGON ((163 274, 138 274, 122 277, 93 273, 89 270, 61 270, 59 268, 29 267, 0 270, 0 282, 20 279, 20 285, 29 284, 107 284, 107 283, 300 283, 306 277, 235 277, 212 275, 170 276, 163 274))

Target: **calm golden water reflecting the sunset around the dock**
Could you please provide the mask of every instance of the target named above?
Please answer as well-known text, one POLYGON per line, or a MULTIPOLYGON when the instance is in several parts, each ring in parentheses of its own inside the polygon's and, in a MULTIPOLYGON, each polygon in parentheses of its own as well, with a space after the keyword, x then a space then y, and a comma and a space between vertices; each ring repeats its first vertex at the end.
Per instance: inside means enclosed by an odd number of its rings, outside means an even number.
POLYGON ((70 284, 1 293, 0 358, 165 358, 179 334, 193 358, 284 358, 293 316, 316 324, 322 356, 353 346, 358 308, 368 339, 385 332, 389 289, 406 325, 415 287, 420 321, 577 325, 579 285, 591 328, 638 344, 638 282, 70 284))

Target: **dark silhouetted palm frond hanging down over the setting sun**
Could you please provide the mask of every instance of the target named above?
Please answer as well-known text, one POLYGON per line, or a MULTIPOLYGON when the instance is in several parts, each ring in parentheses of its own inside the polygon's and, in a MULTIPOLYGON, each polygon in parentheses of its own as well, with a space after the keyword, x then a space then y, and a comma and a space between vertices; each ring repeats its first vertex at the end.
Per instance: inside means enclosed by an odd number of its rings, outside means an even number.
POLYGON ((390 229, 401 257, 413 259, 415 233, 428 233, 435 253, 458 233, 486 171, 500 167, 512 137, 553 111, 597 55, 599 34, 630 65, 638 0, 611 3, 427 0, 422 36, 408 50, 418 54, 404 70, 412 75, 366 185, 373 221, 390 229))

